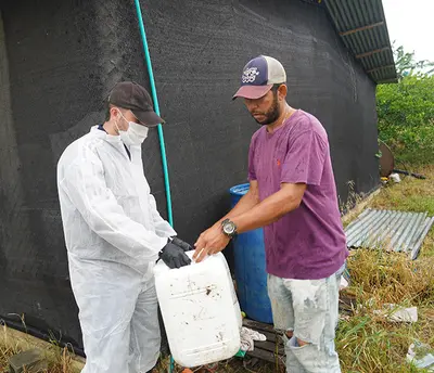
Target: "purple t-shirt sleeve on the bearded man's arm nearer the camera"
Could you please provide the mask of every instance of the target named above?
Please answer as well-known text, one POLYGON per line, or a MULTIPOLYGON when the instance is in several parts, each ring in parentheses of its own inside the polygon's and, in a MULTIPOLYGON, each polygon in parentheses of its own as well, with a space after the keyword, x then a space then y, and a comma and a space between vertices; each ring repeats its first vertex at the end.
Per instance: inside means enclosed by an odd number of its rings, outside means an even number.
POLYGON ((291 140, 285 155, 281 182, 319 185, 324 168, 328 143, 312 130, 291 140))

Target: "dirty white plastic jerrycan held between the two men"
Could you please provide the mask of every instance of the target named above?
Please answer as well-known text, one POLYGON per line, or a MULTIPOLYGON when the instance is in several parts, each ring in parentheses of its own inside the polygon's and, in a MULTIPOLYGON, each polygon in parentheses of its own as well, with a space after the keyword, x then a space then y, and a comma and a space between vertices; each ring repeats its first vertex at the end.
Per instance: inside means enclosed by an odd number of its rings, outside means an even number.
MULTIPOLYGON (((193 252, 188 255, 192 257, 193 252)), ((233 299, 232 280, 221 253, 171 270, 159 260, 154 273, 167 339, 178 364, 204 365, 239 351, 240 306, 237 296, 233 299)))

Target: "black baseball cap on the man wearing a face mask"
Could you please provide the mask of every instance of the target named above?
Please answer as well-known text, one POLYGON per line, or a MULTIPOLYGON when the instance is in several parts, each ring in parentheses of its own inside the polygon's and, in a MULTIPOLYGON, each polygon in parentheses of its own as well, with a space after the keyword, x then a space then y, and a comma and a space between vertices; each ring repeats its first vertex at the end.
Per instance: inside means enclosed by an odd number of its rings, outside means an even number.
POLYGON ((113 87, 108 103, 128 108, 143 126, 155 127, 164 120, 154 112, 151 95, 135 81, 120 81, 113 87))

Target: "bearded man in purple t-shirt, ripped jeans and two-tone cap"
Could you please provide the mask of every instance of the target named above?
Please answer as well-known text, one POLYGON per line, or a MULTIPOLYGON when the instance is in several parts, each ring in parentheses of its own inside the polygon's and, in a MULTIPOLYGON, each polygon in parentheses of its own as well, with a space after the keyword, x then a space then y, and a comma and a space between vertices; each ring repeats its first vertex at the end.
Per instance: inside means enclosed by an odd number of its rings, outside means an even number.
POLYGON ((224 249, 231 237, 264 227, 268 294, 275 326, 285 331, 292 373, 341 372, 334 348, 339 282, 348 255, 324 128, 286 103, 281 63, 247 63, 241 97, 261 128, 248 154, 251 188, 203 232, 194 258, 224 249))

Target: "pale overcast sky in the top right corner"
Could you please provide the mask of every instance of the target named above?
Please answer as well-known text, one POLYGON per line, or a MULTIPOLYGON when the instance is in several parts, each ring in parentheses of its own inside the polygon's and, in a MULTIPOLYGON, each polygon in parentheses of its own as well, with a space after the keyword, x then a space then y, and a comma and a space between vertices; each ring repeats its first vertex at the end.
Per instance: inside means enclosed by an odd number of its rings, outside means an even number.
POLYGON ((383 0, 383 8, 391 42, 434 61, 434 0, 383 0))

